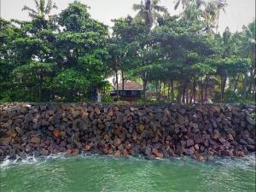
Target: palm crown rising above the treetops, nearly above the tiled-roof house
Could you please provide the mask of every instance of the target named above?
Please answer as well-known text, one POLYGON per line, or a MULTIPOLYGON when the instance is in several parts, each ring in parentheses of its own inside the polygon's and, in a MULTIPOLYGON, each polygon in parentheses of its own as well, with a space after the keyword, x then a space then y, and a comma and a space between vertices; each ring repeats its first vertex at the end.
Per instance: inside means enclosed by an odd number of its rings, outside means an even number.
POLYGON ((168 11, 164 6, 159 5, 160 0, 143 0, 140 4, 134 4, 133 9, 138 11, 135 20, 142 20, 150 28, 160 13, 166 14, 168 11))

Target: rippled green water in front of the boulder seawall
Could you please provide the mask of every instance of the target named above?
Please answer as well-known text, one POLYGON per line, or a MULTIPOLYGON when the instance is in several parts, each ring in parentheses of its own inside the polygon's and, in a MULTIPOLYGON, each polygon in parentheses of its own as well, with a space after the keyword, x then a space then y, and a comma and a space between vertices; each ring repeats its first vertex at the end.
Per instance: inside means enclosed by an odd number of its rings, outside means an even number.
POLYGON ((255 157, 236 160, 143 160, 100 156, 4 161, 9 191, 255 191, 255 157))

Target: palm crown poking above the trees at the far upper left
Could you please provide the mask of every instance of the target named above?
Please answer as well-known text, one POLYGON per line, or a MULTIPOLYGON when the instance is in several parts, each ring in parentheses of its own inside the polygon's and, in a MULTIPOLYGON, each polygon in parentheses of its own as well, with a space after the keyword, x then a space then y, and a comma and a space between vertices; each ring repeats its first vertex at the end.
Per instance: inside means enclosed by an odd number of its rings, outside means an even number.
POLYGON ((34 0, 34 2, 36 4, 36 9, 31 9, 26 5, 22 9, 22 11, 28 11, 28 15, 32 18, 36 18, 38 16, 44 17, 44 15, 49 15, 52 9, 57 9, 57 6, 52 2, 52 0, 48 0, 47 4, 45 3, 45 0, 34 0))

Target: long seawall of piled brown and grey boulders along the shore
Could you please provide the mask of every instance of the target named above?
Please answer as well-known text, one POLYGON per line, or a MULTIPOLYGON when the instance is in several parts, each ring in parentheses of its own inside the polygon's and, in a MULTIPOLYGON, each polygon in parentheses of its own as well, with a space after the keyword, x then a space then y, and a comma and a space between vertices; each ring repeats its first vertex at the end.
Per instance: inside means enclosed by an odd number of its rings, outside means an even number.
POLYGON ((244 156, 255 151, 255 108, 177 104, 0 105, 0 159, 82 152, 148 158, 244 156))

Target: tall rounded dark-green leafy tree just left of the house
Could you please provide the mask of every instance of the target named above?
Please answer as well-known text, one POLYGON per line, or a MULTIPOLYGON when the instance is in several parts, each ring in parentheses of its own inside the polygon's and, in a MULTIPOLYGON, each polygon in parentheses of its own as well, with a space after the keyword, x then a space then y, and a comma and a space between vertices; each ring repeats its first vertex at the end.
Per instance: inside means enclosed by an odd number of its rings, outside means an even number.
POLYGON ((90 100, 108 71, 108 26, 90 18, 87 9, 75 1, 58 17, 62 32, 56 35, 55 60, 60 73, 54 81, 59 90, 56 94, 64 101, 90 100), (67 84, 61 83, 65 81, 67 84), (79 85, 73 87, 72 82, 79 85), (71 87, 67 89, 67 85, 71 87))

